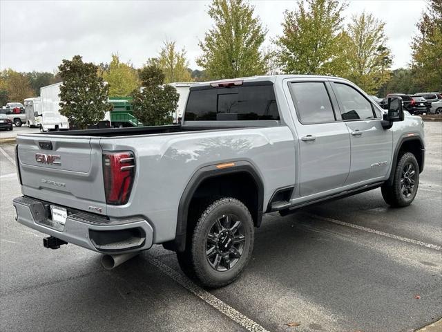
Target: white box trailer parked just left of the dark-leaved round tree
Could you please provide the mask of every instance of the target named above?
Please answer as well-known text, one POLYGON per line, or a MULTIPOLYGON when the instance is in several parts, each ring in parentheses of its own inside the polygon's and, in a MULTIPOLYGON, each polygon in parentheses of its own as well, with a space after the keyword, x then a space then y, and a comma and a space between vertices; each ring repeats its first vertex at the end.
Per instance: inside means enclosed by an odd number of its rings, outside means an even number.
POLYGON ((40 89, 41 131, 69 129, 68 118, 60 114, 59 94, 61 84, 63 83, 55 83, 40 89))

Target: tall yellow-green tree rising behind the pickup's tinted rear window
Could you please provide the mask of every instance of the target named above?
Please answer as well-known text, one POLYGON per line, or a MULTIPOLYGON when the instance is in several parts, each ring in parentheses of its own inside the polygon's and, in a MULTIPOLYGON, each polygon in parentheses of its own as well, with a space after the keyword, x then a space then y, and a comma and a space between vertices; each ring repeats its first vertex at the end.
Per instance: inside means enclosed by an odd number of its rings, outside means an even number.
POLYGON ((265 73, 260 52, 267 29, 253 17, 254 7, 242 0, 213 0, 208 14, 214 26, 200 41, 197 64, 209 79, 244 77, 265 73))

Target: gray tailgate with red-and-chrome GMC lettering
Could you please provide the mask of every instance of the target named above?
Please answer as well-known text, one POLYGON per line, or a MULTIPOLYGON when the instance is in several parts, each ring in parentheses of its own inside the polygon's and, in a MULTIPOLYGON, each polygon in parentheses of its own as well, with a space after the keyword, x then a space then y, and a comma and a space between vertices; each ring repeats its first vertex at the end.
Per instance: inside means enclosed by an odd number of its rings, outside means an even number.
POLYGON ((17 136, 22 194, 106 214, 99 138, 17 136))

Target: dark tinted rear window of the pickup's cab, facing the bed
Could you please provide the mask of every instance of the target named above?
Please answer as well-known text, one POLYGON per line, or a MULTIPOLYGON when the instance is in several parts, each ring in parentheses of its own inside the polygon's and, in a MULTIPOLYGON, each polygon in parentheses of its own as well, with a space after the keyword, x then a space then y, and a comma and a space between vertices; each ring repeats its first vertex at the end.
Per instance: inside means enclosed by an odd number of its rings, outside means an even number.
POLYGON ((273 85, 191 90, 185 120, 279 120, 273 85))

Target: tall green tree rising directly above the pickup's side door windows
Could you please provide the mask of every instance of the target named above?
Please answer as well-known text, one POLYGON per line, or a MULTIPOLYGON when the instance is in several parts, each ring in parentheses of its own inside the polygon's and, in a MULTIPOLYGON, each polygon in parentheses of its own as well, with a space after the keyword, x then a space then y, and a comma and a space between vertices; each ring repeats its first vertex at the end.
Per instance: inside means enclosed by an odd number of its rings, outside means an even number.
POLYGON ((283 34, 276 39, 282 72, 340 75, 345 71, 342 12, 338 0, 298 0, 298 10, 285 11, 283 34))

